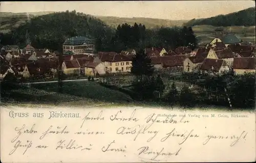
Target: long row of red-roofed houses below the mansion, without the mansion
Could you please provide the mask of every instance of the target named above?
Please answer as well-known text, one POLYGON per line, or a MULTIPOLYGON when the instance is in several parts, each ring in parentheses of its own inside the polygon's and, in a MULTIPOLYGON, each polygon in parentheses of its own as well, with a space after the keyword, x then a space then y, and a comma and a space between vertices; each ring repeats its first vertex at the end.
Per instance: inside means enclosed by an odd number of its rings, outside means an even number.
MULTIPOLYGON (((246 47, 249 48, 249 47, 246 47)), ((166 52, 164 48, 147 48, 146 55, 151 58, 151 64, 157 71, 167 72, 191 72, 195 70, 223 72, 233 70, 238 74, 245 72, 255 72, 255 58, 253 52, 244 53, 233 52, 229 47, 225 48, 179 48, 166 52), (180 50, 180 49, 183 49, 180 50), (176 51, 176 52, 175 52, 176 51)), ((135 50, 133 50, 135 51, 135 50)), ((8 52, 11 53, 11 52, 8 52)), ((67 75, 103 75, 106 73, 127 73, 131 72, 134 53, 99 52, 98 56, 88 55, 68 55, 63 56, 61 64, 62 71, 67 75)), ((19 55, 6 60, 6 56, 1 57, 1 77, 8 72, 17 76, 56 76, 58 68, 58 58, 37 56, 34 53, 29 55, 19 55)))

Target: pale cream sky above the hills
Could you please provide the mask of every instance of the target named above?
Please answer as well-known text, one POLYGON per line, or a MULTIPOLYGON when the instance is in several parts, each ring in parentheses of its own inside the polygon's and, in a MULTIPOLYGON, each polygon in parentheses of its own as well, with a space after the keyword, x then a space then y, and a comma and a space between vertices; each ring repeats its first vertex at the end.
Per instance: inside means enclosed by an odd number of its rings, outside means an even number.
POLYGON ((150 17, 173 20, 207 18, 255 7, 245 1, 87 1, 1 2, 1 12, 72 11, 95 16, 150 17))

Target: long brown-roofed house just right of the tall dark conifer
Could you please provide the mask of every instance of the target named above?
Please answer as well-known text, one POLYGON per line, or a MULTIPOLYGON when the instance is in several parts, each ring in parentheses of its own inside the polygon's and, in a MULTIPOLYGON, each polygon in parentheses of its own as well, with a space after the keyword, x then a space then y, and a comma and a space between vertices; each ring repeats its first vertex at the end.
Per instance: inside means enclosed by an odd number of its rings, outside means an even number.
POLYGON ((186 58, 186 55, 164 56, 161 58, 161 64, 164 71, 182 72, 183 62, 186 58))

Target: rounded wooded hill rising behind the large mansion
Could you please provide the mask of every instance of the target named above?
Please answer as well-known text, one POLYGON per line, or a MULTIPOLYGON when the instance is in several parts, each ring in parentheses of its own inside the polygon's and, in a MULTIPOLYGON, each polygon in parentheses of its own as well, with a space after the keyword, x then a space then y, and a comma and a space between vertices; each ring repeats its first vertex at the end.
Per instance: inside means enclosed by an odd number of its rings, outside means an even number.
POLYGON ((12 38, 12 44, 17 44, 20 47, 26 45, 26 33, 29 35, 32 46, 47 47, 53 50, 60 50, 62 43, 73 36, 88 36, 93 39, 105 36, 105 40, 112 36, 112 29, 104 22, 91 15, 75 11, 27 17, 24 21, 7 34, 9 38, 12 38))

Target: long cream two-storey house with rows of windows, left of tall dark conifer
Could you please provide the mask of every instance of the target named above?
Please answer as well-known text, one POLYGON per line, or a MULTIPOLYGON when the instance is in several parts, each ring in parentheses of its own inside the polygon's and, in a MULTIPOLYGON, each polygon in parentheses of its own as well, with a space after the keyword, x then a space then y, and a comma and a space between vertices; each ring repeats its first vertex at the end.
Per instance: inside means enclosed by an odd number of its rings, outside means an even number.
POLYGON ((98 54, 104 63, 106 73, 131 72, 134 55, 121 55, 116 52, 104 52, 98 54))

